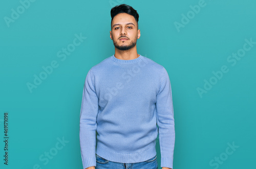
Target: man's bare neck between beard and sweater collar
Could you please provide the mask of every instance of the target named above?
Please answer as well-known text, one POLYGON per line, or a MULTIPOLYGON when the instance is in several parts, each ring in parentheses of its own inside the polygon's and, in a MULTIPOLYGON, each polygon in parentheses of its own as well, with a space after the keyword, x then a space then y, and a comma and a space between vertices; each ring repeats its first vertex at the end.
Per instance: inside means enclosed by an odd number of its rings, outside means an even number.
POLYGON ((137 53, 136 46, 134 46, 132 49, 126 50, 126 51, 118 50, 115 47, 115 57, 117 59, 122 59, 122 60, 132 60, 132 59, 138 58, 139 54, 137 53))

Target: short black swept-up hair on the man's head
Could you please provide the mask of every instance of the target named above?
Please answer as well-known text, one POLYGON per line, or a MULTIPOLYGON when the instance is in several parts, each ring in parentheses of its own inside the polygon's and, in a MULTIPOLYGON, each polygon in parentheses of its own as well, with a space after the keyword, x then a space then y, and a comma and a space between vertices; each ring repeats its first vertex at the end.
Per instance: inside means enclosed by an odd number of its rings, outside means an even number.
MULTIPOLYGON (((135 18, 135 20, 137 21, 137 25, 138 25, 138 21, 139 21, 138 12, 135 9, 133 9, 133 7, 126 5, 126 4, 121 4, 121 5, 115 6, 111 9, 111 11, 110 11, 111 18, 112 18, 111 25, 112 25, 113 18, 119 13, 127 13, 129 15, 132 15, 135 18)), ((138 27, 139 27, 139 25, 138 25, 138 27)))

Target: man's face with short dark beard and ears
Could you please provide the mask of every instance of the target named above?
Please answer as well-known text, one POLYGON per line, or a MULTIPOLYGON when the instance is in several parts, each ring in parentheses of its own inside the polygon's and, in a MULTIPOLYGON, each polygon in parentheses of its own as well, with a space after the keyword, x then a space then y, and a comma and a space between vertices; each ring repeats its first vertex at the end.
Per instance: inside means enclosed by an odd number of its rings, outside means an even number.
POLYGON ((140 30, 135 18, 127 13, 117 14, 112 20, 110 38, 114 46, 121 51, 136 46, 137 39, 140 38, 140 30))

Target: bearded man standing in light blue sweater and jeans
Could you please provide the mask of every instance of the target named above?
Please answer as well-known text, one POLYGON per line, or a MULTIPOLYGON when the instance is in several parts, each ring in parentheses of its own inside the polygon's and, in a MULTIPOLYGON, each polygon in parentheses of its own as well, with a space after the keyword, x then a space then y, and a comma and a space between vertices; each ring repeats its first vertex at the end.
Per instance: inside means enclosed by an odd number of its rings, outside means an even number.
POLYGON ((137 53, 136 10, 122 4, 111 9, 111 17, 115 54, 89 70, 83 87, 83 168, 158 168, 158 134, 161 167, 173 168, 175 128, 167 71, 137 53))

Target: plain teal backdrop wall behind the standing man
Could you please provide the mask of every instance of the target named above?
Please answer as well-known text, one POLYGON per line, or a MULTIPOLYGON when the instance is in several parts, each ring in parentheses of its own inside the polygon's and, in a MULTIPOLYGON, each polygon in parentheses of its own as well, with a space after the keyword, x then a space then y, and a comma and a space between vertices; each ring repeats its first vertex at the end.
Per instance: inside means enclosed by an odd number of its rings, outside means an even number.
MULTIPOLYGON (((22 0, 23 2, 24 0, 22 0)), ((19 1, 0 2, 0 133, 9 113, 9 161, 1 168, 82 168, 79 114, 89 69, 114 54, 110 10, 128 4, 139 13, 141 37, 137 51, 163 65, 173 91, 176 142, 174 168, 254 168, 256 45, 232 66, 228 56, 256 41, 256 1, 206 0, 178 30, 182 15, 200 1, 35 1, 9 27, 19 1), (65 60, 57 57, 75 34, 87 37, 65 60), (32 92, 27 83, 55 60, 58 67, 32 92), (228 72, 200 97, 212 71, 228 72), (55 148, 58 138, 69 141, 52 159, 39 160, 55 148), (228 143, 239 146, 226 155, 228 143), (221 156, 221 157, 220 157, 221 156), (222 159, 221 163, 215 158, 222 159), (214 160, 210 164, 210 161, 214 160), (212 166, 215 163, 214 166, 212 166), (218 167, 217 167, 218 164, 218 167)), ((229 149, 231 151, 231 149, 229 149)), ((157 140, 160 167, 160 149, 157 140)))

